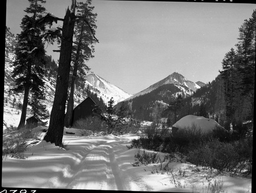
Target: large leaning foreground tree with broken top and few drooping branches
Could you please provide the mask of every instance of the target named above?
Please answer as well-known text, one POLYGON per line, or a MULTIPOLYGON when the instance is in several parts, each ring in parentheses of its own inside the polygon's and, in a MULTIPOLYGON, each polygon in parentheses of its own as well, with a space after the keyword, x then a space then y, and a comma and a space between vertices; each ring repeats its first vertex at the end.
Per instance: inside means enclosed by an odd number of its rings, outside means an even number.
MULTIPOLYGON (((86 20, 86 18, 76 16, 75 10, 76 0, 72 0, 71 10, 69 8, 67 9, 66 15, 63 19, 55 17, 54 15, 48 13, 41 19, 37 20, 38 24, 43 23, 44 25, 52 25, 53 22, 57 22, 58 20, 63 21, 63 26, 61 29, 58 28, 58 30, 47 30, 44 34, 46 41, 50 43, 54 40, 61 40, 60 50, 56 51, 60 52, 60 55, 54 101, 50 115, 49 128, 46 136, 44 137, 44 140, 46 140, 47 142, 50 141, 51 143, 55 143, 55 146, 60 147, 63 146, 62 137, 64 129, 66 101, 68 95, 75 22, 78 20, 84 20, 88 23, 88 26, 90 28, 90 24, 86 20)), ((91 33, 93 33, 92 30, 91 33)))

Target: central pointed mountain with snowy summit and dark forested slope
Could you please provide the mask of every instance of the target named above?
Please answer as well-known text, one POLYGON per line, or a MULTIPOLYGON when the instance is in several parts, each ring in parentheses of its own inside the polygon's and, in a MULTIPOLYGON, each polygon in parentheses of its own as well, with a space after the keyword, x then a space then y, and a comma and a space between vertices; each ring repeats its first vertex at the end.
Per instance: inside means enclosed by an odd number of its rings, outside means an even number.
POLYGON ((186 98, 187 96, 191 96, 199 88, 201 87, 198 84, 174 72, 150 87, 118 103, 116 107, 119 108, 124 104, 129 108, 133 118, 152 121, 153 109, 157 104, 161 104, 164 109, 179 94, 182 98, 186 98))

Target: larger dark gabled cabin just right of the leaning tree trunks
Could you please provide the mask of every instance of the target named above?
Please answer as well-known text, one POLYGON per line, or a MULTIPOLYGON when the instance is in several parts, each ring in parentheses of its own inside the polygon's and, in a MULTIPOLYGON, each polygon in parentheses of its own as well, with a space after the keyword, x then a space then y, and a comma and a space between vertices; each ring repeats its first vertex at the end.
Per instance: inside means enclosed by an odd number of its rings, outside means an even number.
POLYGON ((92 115, 95 105, 96 103, 90 98, 90 96, 77 105, 73 111, 73 120, 71 125, 73 125, 76 120, 92 115))

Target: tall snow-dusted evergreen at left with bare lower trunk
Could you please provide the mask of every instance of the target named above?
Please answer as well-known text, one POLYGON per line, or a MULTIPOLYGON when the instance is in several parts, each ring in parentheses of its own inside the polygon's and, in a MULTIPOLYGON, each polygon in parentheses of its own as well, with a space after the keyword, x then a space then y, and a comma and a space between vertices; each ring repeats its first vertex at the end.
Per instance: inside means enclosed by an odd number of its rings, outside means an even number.
POLYGON ((28 0, 30 7, 25 12, 32 16, 25 15, 22 19, 22 32, 18 34, 18 42, 15 49, 16 60, 13 62, 12 77, 15 87, 11 89, 14 93, 24 92, 22 114, 18 129, 25 126, 27 106, 29 103, 29 92, 44 92, 42 78, 45 72, 45 49, 42 43, 41 32, 44 26, 36 25, 36 19, 41 17, 45 8, 38 3, 45 3, 43 0, 28 0))

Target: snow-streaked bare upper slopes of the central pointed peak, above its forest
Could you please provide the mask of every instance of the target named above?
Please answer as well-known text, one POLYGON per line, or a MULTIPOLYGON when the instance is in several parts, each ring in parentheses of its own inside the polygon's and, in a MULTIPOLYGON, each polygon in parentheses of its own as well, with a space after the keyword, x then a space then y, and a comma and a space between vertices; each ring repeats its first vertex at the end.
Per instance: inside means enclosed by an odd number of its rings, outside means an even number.
POLYGON ((149 92, 152 92, 153 90, 159 88, 162 85, 165 84, 174 84, 176 85, 178 88, 180 88, 184 94, 186 95, 191 95, 194 91, 196 91, 198 88, 200 88, 199 85, 197 85, 196 83, 187 80, 185 77, 183 77, 182 75, 180 75, 179 73, 173 73, 171 75, 169 75, 168 77, 166 77, 165 79, 151 85, 150 87, 134 94, 133 96, 131 96, 129 99, 126 100, 130 100, 135 98, 136 96, 140 96, 149 92))

